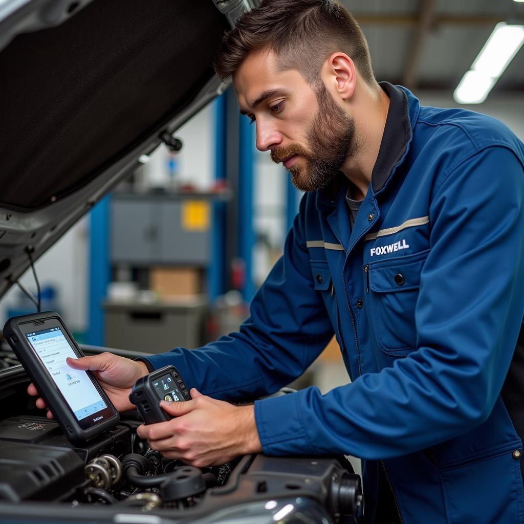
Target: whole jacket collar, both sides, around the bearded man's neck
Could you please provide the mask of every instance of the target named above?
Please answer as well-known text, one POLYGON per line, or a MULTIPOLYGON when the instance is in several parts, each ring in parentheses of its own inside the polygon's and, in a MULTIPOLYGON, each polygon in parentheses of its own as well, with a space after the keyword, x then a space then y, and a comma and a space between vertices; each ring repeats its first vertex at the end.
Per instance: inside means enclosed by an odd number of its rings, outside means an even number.
MULTIPOLYGON (((406 88, 389 82, 380 82, 379 85, 388 94, 390 102, 384 135, 371 177, 371 188, 375 194, 386 187, 395 168, 406 157, 420 111, 419 100, 406 88)), ((346 187, 341 177, 345 180, 341 173, 327 188, 318 191, 317 204, 329 207, 337 205, 337 193, 341 187, 346 187)))

